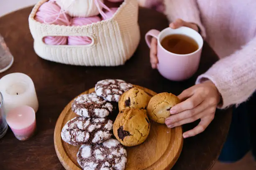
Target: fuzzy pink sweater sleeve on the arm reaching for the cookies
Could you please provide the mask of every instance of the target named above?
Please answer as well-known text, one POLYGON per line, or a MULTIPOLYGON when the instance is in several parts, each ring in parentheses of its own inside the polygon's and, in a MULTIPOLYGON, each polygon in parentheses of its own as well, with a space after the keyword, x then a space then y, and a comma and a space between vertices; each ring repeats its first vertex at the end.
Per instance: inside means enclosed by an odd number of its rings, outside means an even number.
POLYGON ((219 108, 246 101, 256 90, 256 37, 241 50, 212 65, 197 78, 196 84, 209 79, 222 96, 219 108))

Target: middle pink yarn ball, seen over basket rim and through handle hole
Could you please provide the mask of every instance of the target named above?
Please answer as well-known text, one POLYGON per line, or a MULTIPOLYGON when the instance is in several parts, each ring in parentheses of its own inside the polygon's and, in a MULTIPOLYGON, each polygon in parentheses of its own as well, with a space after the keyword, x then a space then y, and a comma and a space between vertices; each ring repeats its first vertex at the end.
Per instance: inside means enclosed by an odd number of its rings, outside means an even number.
MULTIPOLYGON (((93 16, 87 18, 72 18, 71 26, 81 26, 88 25, 92 23, 97 23, 101 21, 100 17, 93 16)), ((92 43, 92 39, 87 36, 69 36, 68 37, 68 45, 88 45, 92 43)))

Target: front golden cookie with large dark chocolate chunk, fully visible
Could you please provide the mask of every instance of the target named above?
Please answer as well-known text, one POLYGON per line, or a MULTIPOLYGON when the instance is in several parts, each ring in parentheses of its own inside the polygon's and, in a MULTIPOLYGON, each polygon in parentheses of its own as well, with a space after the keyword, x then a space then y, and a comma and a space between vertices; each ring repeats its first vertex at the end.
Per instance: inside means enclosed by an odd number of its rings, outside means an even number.
POLYGON ((148 116, 139 109, 121 110, 113 125, 115 138, 125 146, 143 143, 148 137, 149 130, 148 116))

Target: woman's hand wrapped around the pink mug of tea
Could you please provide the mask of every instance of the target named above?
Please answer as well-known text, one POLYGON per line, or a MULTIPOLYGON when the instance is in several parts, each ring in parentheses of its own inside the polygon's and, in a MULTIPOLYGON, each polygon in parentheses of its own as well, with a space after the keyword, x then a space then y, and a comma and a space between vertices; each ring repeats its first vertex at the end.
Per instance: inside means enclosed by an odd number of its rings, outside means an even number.
MULTIPOLYGON (((177 19, 175 20, 173 23, 170 23, 169 27, 172 29, 177 29, 179 27, 189 27, 192 28, 196 31, 198 31, 198 27, 196 24, 194 23, 187 23, 186 21, 182 20, 182 19, 177 19)), ((151 41, 151 47, 150 47, 150 63, 151 63, 151 67, 153 69, 157 68, 157 64, 158 64, 158 59, 157 59, 157 40, 156 38, 152 38, 151 41)))

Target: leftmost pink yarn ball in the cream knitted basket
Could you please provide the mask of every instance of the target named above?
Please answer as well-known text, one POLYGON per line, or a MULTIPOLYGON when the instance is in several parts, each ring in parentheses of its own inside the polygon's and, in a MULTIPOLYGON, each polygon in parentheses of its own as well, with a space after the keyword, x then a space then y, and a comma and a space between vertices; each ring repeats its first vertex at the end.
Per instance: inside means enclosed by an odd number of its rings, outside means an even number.
MULTIPOLYGON (((63 13, 55 2, 43 3, 36 13, 35 20, 54 25, 70 24, 70 16, 63 13)), ((47 36, 43 40, 48 45, 67 45, 67 37, 63 36, 47 36)))

